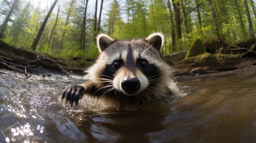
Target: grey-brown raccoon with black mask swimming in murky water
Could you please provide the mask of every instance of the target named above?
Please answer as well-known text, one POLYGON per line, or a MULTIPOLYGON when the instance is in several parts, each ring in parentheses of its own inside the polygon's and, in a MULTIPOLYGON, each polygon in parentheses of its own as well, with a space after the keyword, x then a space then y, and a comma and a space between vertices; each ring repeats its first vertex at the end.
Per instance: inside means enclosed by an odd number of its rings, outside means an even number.
POLYGON ((86 95, 119 107, 170 97, 172 68, 160 55, 163 44, 162 33, 130 41, 97 35, 100 54, 95 64, 85 70, 88 81, 69 85, 63 90, 62 99, 78 105, 86 95))

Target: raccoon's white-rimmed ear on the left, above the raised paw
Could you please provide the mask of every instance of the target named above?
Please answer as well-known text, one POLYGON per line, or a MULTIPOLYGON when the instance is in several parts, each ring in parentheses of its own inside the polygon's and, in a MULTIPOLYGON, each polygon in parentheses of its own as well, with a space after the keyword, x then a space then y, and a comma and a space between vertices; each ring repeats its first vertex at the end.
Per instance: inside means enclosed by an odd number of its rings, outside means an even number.
POLYGON ((115 41, 104 33, 97 35, 96 38, 99 52, 103 52, 106 48, 108 48, 110 44, 112 44, 115 41))

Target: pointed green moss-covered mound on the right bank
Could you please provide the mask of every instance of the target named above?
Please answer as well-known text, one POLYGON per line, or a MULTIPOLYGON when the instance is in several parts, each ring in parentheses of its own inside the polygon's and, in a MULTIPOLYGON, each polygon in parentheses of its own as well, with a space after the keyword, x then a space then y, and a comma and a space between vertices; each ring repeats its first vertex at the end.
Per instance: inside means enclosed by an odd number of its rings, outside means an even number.
POLYGON ((188 57, 194 57, 203 53, 206 53, 206 49, 202 44, 200 39, 194 39, 191 46, 189 47, 189 51, 186 53, 185 59, 188 57))

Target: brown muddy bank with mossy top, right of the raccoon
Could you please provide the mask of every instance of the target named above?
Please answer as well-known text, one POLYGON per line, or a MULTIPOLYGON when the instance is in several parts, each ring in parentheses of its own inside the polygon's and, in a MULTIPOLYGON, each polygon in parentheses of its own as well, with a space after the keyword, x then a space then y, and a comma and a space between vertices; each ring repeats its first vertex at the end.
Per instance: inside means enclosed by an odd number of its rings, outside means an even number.
POLYGON ((175 80, 233 75, 236 73, 256 72, 256 57, 240 57, 230 54, 204 54, 183 59, 172 65, 175 80))

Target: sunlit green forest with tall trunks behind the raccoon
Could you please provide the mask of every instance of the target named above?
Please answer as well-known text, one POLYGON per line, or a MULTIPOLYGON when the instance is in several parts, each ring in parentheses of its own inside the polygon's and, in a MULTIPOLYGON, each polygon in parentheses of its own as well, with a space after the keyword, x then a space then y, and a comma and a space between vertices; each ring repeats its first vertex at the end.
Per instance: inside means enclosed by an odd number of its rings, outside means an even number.
POLYGON ((0 38, 65 59, 97 56, 95 35, 115 39, 165 34, 162 53, 221 37, 254 37, 254 0, 0 0, 0 38), (45 4, 47 3, 47 4, 45 4))

